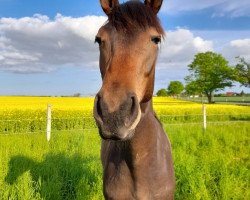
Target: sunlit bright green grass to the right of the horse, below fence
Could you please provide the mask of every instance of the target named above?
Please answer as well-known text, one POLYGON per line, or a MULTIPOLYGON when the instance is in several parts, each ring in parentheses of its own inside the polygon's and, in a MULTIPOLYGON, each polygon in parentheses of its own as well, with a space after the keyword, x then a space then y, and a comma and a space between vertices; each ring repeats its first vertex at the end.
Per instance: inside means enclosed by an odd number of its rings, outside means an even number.
POLYGON ((177 180, 176 199, 250 199, 250 124, 167 128, 177 180))

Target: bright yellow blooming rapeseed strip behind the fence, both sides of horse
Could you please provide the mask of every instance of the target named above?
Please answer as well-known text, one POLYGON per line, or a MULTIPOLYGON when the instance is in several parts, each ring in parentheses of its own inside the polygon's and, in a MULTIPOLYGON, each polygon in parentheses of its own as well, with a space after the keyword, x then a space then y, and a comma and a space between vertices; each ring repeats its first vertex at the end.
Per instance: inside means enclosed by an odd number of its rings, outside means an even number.
MULTIPOLYGON (((158 115, 201 114, 202 105, 190 101, 177 100, 169 97, 154 97, 154 109, 158 115)), ((47 105, 55 112, 81 111, 83 116, 91 116, 94 98, 76 97, 0 97, 0 116, 13 112, 46 111, 47 105)), ((207 114, 250 114, 249 106, 211 104, 207 105, 207 114)), ((11 115, 10 115, 11 116, 11 115)))

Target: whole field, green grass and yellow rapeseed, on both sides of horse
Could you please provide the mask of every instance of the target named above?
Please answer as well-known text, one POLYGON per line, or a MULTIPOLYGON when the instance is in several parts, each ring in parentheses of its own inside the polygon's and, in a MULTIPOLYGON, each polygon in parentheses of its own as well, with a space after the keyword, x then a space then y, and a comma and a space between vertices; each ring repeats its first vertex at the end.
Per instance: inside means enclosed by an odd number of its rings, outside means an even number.
MULTIPOLYGON (((0 97, 1 200, 103 199, 92 107, 93 98, 0 97)), ((175 199, 250 199, 250 107, 207 105, 206 132, 201 104, 154 98, 154 108, 172 143, 175 199)))

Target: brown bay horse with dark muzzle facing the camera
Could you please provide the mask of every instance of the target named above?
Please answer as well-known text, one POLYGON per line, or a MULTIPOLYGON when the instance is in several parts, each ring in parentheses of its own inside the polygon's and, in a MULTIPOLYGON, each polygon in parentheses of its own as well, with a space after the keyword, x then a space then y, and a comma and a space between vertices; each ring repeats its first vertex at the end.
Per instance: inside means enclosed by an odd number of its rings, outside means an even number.
POLYGON ((155 65, 164 37, 162 0, 100 0, 108 21, 95 42, 102 87, 94 118, 102 138, 103 194, 109 200, 173 199, 171 144, 152 106, 155 65))

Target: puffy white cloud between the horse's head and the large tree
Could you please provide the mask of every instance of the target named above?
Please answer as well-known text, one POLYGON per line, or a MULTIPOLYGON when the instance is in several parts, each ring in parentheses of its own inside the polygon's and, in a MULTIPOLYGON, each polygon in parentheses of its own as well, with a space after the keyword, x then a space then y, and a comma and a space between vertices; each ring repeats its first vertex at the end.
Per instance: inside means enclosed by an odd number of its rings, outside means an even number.
POLYGON ((177 29, 166 33, 156 66, 156 88, 166 88, 173 80, 184 81, 187 66, 198 52, 212 51, 213 42, 196 37, 187 29, 177 29))

